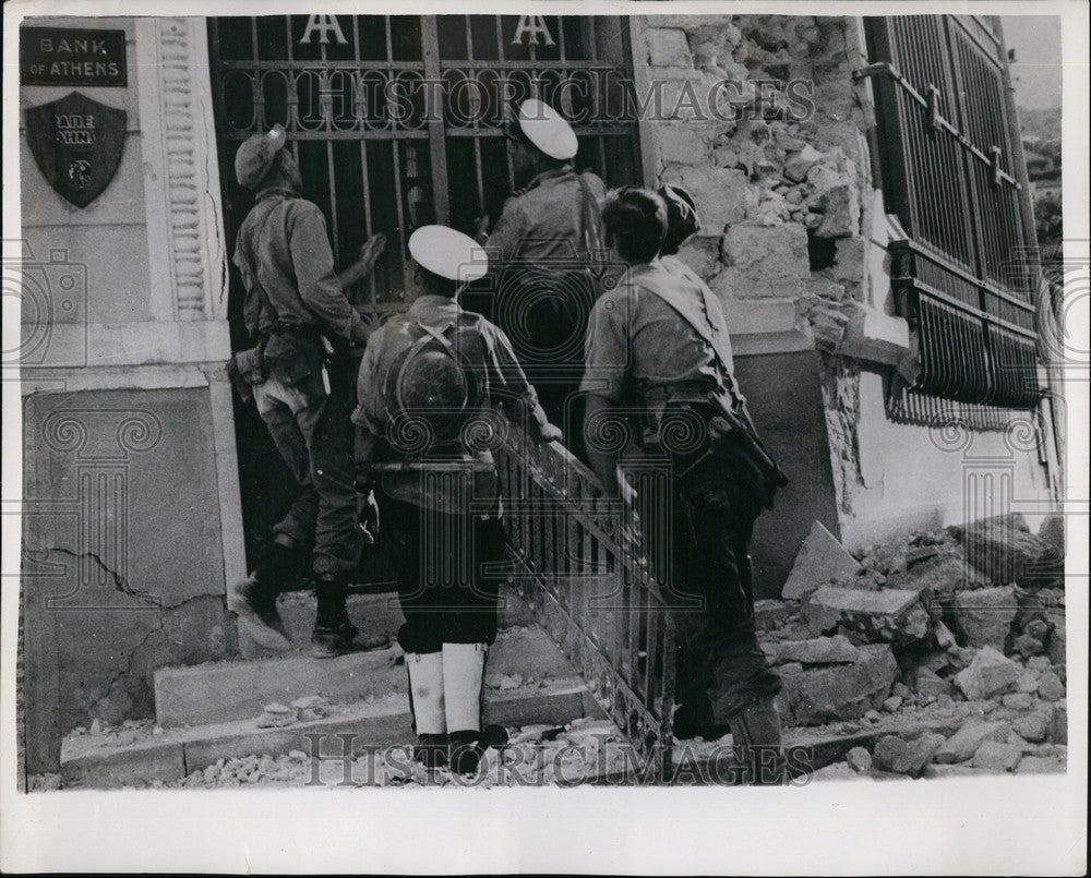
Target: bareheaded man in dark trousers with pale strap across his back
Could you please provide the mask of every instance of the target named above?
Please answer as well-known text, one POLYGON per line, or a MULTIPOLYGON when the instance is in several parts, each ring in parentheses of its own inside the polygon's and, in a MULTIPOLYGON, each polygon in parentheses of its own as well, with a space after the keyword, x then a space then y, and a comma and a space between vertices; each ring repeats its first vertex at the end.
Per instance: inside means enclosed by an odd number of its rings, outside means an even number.
POLYGON ((595 442, 611 419, 632 412, 640 453, 670 466, 671 554, 646 550, 679 601, 679 736, 726 724, 753 779, 763 759, 779 775, 780 687, 757 642, 747 543, 783 474, 745 414, 715 296, 658 258, 668 230, 662 199, 622 189, 608 196, 602 219, 612 255, 628 268, 596 302, 587 332, 588 458, 607 495, 632 509, 618 452, 595 442), (699 611, 686 609, 695 598, 699 611))

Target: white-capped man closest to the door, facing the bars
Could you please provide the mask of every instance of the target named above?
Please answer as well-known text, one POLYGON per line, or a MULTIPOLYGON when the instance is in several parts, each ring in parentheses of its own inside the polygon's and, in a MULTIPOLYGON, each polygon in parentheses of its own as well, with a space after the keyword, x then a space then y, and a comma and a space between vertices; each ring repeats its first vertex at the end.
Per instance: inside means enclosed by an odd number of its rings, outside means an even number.
POLYGON ((529 182, 504 203, 491 233, 484 234, 489 218, 478 220, 478 241, 490 250, 495 278, 495 300, 485 313, 511 337, 550 419, 563 423, 598 294, 594 269, 602 250, 606 184, 590 171, 575 172, 576 133, 548 104, 524 101, 505 134, 516 179, 529 182))

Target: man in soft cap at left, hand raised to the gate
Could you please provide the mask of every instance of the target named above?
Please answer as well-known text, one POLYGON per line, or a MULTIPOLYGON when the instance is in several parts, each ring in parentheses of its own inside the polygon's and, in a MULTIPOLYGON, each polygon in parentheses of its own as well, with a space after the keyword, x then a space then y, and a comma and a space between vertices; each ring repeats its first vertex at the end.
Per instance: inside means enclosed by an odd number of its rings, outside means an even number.
POLYGON ((236 354, 232 364, 251 385, 300 491, 254 570, 230 589, 228 608, 256 642, 290 649, 276 599, 300 555, 313 548, 317 616, 312 653, 327 658, 388 645, 385 636, 361 636, 346 611, 362 537, 352 481, 350 384, 331 356, 367 339, 343 282, 371 270, 382 240, 370 241, 341 277, 334 274, 325 220, 316 205, 300 197, 299 167, 285 142, 284 129, 276 125, 245 141, 235 159, 239 183, 256 192, 239 229, 235 264, 247 290, 247 328, 257 346, 236 354))

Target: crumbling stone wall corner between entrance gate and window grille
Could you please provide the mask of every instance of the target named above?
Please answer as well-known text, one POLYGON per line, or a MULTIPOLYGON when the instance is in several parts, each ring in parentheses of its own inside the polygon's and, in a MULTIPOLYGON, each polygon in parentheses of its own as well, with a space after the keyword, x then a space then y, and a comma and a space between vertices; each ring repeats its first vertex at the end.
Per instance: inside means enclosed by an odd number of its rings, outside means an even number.
MULTIPOLYGON (((664 82, 662 118, 644 128, 649 167, 657 184, 679 183, 694 195, 705 224, 681 255, 723 302, 752 404, 794 413, 803 402, 823 413, 772 436, 793 483, 759 526, 758 565, 774 558, 767 572, 787 573, 781 558, 790 567, 816 519, 858 549, 967 515, 1020 510, 973 512, 981 498, 968 493, 966 473, 979 456, 1004 458, 1011 498, 1046 498, 1035 449, 1019 437, 1023 426, 975 433, 967 455, 937 441, 936 430, 887 414, 884 374, 906 364, 910 335, 890 297, 890 228, 868 144, 874 105, 866 82, 852 79, 866 63, 860 20, 664 15, 644 23, 638 46, 648 77, 664 82), (702 100, 723 81, 742 85, 702 100), (767 357, 788 351, 811 352, 795 369, 813 374, 803 385, 815 399, 769 380, 767 357), (810 464, 816 449, 826 465, 810 464), (796 454, 808 465, 793 465, 796 454), (801 488, 823 503, 795 503, 801 488)), ((771 597, 782 581, 764 577, 758 591, 771 597)))

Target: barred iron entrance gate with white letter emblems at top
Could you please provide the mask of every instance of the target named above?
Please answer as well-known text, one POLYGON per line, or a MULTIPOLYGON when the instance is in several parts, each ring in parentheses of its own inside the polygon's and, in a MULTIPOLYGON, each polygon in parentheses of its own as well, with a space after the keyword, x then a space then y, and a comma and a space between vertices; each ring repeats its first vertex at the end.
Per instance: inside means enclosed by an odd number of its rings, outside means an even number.
POLYGON ((387 251, 350 298, 365 320, 404 308, 406 241, 443 222, 495 222, 515 178, 503 137, 526 97, 574 120, 574 165, 639 178, 636 125, 619 113, 628 24, 556 15, 277 15, 209 22, 228 244, 252 204, 239 143, 280 123, 338 265, 375 232, 387 251), (615 121, 616 120, 616 121, 615 121))

